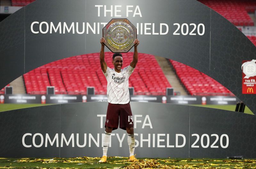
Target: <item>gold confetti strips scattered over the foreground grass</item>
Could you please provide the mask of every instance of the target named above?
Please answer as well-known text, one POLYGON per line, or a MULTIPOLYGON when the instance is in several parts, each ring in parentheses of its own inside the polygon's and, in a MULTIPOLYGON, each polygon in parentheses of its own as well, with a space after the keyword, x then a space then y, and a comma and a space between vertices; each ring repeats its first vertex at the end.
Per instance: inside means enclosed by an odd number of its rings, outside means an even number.
MULTIPOLYGON (((101 168, 108 169, 226 169, 226 168, 252 168, 256 169, 256 160, 255 159, 225 159, 225 160, 215 160, 215 159, 149 159, 137 160, 136 162, 131 162, 127 157, 108 157, 107 163, 104 164, 117 164, 122 165, 122 167, 112 167, 109 166, 100 166, 101 168), (124 166, 126 165, 126 166, 124 166)), ((100 157, 77 157, 77 158, 21 158, 17 160, 19 163, 33 163, 33 162, 42 162, 42 163, 73 163, 74 165, 80 164, 96 164, 100 157)), ((81 165, 80 165, 81 166, 81 165)), ((83 165, 85 166, 85 165, 83 165)), ((14 168, 11 166, 5 166, 0 168, 14 168)), ((25 168, 25 167, 21 167, 25 168)), ((33 169, 29 167, 30 169, 33 169)), ((78 166, 76 168, 79 168, 78 166)), ((43 168, 37 167, 35 169, 63 169, 63 168, 43 168)), ((69 168, 75 169, 75 168, 69 168)))

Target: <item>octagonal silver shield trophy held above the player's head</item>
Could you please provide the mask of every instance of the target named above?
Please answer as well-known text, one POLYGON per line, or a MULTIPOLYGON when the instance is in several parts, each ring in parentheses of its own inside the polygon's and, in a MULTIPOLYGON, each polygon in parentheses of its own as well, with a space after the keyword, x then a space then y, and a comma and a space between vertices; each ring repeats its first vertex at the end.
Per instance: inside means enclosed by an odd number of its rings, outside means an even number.
POLYGON ((137 29, 127 18, 114 18, 103 28, 106 46, 113 53, 126 53, 137 39, 137 29))

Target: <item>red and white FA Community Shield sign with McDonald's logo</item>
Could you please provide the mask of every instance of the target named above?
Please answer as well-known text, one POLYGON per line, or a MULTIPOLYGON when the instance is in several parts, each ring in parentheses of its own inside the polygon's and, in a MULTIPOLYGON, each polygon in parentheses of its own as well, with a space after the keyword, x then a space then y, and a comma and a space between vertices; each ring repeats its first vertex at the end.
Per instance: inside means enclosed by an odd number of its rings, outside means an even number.
POLYGON ((242 93, 256 94, 256 60, 243 61, 242 63, 242 93))

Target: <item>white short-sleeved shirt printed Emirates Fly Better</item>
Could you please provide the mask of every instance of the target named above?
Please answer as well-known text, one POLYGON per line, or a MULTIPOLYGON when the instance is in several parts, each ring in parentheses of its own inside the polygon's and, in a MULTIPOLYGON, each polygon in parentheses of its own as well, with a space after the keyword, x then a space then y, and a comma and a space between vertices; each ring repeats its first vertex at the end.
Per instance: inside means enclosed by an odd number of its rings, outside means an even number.
POLYGON ((106 73, 103 72, 107 79, 107 95, 108 103, 112 104, 127 104, 130 101, 129 94, 129 77, 134 68, 130 65, 117 73, 114 69, 107 67, 106 73))

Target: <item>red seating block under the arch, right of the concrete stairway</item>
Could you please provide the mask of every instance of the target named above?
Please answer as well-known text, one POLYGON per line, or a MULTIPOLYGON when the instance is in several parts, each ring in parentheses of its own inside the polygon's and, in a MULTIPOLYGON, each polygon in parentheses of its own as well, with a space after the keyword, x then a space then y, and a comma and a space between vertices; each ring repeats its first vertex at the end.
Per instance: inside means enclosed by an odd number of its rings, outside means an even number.
POLYGON ((219 82, 204 73, 177 61, 170 60, 170 62, 180 82, 190 95, 234 95, 219 82))

